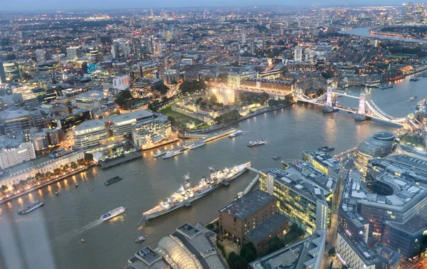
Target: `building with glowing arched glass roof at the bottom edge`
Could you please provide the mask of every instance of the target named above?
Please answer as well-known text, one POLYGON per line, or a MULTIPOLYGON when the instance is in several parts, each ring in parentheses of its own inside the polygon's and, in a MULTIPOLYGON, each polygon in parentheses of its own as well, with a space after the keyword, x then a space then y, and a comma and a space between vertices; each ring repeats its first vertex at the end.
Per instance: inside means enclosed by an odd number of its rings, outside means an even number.
POLYGON ((129 265, 125 269, 226 269, 215 240, 216 233, 201 223, 184 223, 170 236, 160 239, 156 249, 146 246, 137 251, 127 260, 129 265))

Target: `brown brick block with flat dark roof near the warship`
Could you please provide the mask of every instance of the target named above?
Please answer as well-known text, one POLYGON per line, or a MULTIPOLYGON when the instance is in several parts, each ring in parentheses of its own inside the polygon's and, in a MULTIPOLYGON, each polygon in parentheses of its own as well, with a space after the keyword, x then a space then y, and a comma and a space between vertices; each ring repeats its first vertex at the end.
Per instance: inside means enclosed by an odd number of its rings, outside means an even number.
POLYGON ((275 196, 258 189, 219 211, 219 229, 228 240, 243 245, 245 234, 253 231, 276 211, 275 196))

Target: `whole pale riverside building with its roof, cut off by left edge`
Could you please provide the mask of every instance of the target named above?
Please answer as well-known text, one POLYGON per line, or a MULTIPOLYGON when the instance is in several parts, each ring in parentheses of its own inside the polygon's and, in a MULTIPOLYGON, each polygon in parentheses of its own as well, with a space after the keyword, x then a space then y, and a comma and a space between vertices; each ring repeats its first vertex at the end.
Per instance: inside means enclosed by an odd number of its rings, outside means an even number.
POLYGON ((23 137, 0 137, 0 168, 6 169, 16 164, 36 159, 33 143, 23 142, 23 137))

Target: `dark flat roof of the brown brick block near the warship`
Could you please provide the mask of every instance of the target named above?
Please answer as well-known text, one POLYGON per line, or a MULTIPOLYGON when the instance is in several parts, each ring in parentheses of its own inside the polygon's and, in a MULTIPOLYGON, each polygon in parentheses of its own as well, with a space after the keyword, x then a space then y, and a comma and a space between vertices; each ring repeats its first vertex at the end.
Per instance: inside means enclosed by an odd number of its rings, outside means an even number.
POLYGON ((255 213, 255 211, 270 203, 270 201, 273 201, 274 199, 274 196, 257 189, 256 191, 252 191, 242 196, 241 199, 233 201, 233 203, 223 207, 223 209, 220 211, 225 211, 230 216, 236 216, 239 219, 244 219, 248 216, 251 216, 253 213, 255 213))

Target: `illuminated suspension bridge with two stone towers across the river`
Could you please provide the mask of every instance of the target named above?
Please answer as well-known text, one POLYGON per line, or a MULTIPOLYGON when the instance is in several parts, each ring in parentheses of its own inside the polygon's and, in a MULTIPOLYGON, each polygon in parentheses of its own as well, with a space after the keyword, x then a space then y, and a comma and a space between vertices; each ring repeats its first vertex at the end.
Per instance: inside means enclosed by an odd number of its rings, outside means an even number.
POLYGON ((395 125, 411 125, 413 127, 419 127, 418 122, 413 118, 413 115, 410 114, 407 117, 392 117, 383 110, 381 110, 378 105, 371 100, 371 92, 369 89, 362 90, 360 95, 346 92, 344 90, 337 90, 331 85, 327 88, 327 92, 320 97, 310 98, 301 90, 295 92, 295 97, 300 102, 309 102, 315 105, 322 105, 323 112, 334 112, 336 110, 345 110, 354 114, 354 119, 357 121, 367 120, 368 118, 381 120, 384 122, 391 122, 395 125), (337 100, 338 96, 347 96, 355 99, 359 99, 359 107, 354 109, 352 107, 345 107, 339 105, 337 100))

